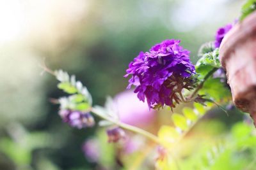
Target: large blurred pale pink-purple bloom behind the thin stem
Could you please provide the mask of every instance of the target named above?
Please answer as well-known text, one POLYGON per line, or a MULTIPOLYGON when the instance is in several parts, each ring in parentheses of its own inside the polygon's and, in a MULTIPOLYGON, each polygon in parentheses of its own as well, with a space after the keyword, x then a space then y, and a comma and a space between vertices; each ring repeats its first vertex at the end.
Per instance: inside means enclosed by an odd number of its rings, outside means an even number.
POLYGON ((136 94, 132 90, 121 92, 113 102, 120 121, 125 124, 143 126, 152 123, 156 117, 156 111, 148 110, 147 104, 136 99, 136 94))

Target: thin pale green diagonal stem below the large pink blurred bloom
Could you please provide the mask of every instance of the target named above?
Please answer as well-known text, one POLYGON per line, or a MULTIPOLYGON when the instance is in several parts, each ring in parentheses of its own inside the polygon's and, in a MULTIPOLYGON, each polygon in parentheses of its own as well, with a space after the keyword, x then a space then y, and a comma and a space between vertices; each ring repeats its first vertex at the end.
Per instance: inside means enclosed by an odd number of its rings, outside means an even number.
POLYGON ((112 122, 113 124, 116 124, 124 129, 127 129, 129 131, 132 132, 136 132, 138 134, 141 134, 145 137, 147 137, 148 139, 151 139, 152 141, 154 141, 155 143, 161 144, 161 141, 159 140, 159 138, 157 138, 157 136, 155 136, 154 134, 151 134, 150 132, 144 131, 143 129, 140 129, 138 127, 132 126, 132 125, 128 125, 128 124, 124 124, 118 120, 115 120, 113 118, 109 118, 106 115, 102 115, 100 113, 97 113, 97 110, 95 110, 94 108, 92 108, 92 113, 94 113, 95 115, 97 115, 100 118, 103 118, 105 120, 108 120, 109 122, 112 122))

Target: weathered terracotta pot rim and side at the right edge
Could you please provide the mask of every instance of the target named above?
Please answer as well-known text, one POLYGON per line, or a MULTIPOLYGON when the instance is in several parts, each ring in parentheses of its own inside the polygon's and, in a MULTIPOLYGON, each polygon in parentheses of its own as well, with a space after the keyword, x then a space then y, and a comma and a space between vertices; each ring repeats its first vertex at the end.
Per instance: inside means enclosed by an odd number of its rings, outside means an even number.
POLYGON ((220 46, 221 65, 227 71, 237 108, 256 122, 256 12, 236 24, 220 46))

